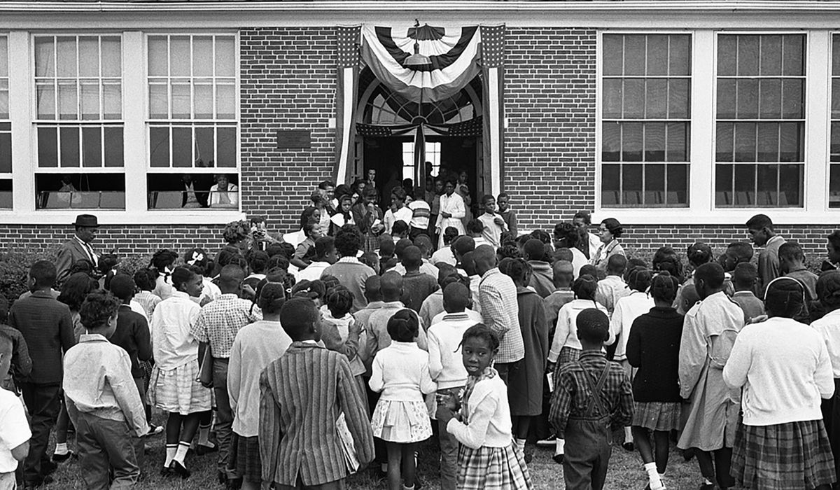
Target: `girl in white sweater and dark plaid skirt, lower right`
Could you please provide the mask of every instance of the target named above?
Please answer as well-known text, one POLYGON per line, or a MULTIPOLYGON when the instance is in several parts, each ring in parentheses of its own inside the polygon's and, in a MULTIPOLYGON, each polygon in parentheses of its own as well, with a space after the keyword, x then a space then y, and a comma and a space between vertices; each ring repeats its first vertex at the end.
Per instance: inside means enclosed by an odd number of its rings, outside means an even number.
POLYGON ((834 393, 828 350, 793 319, 805 306, 801 282, 774 279, 765 302, 769 319, 741 330, 723 368, 728 387, 743 387, 731 474, 746 488, 828 490, 836 479, 820 411, 834 393))

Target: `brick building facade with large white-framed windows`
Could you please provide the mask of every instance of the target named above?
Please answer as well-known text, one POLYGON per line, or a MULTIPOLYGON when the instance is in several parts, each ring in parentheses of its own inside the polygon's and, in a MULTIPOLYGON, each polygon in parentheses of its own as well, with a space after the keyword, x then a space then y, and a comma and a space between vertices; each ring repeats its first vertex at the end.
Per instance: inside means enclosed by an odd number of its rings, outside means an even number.
MULTIPOLYGON (((837 227, 840 2, 30 0, 0 2, 0 236, 55 245, 82 209, 123 253, 216 245, 244 214, 291 231, 335 175, 338 26, 415 18, 505 25, 498 168, 482 135, 430 134, 426 155, 475 200, 510 193, 525 229, 589 209, 631 248, 721 246, 764 212, 822 253, 837 227), (185 206, 187 172, 239 192, 185 206)), ((411 120, 359 77, 355 123, 411 120)), ((480 91, 428 110, 465 122, 480 91)), ((411 175, 411 145, 357 134, 349 173, 411 175)))

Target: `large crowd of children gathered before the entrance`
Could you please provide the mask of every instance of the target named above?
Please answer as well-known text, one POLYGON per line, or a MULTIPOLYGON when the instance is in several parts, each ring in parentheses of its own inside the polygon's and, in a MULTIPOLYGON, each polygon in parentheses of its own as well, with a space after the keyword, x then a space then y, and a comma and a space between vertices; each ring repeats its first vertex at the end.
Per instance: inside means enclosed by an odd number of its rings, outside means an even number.
POLYGON ((162 477, 213 452, 228 488, 340 489, 372 466, 413 489, 430 438, 442 489, 531 488, 538 442, 565 487, 615 487, 613 436, 651 490, 672 441, 706 490, 837 482, 840 231, 819 275, 761 214, 757 262, 698 241, 684 268, 671 246, 628 256, 616 219, 524 234, 507 194, 471 218, 455 187, 394 187, 382 213, 375 188, 322 182, 297 239, 252 219, 130 275, 89 245, 69 271, 35 262, 0 301, 0 490, 74 455, 87 488, 131 487, 160 432, 162 477))

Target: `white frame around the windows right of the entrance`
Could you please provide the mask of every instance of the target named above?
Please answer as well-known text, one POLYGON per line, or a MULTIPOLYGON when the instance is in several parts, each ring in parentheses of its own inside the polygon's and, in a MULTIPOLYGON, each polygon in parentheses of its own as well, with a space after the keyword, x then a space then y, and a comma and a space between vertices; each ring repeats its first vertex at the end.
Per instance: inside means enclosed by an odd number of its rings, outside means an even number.
POLYGON ((832 223, 840 208, 828 208, 831 119, 831 34, 829 29, 603 29, 596 37, 596 131, 594 220, 626 224, 736 224, 756 213, 776 224, 832 223), (601 206, 601 97, 603 34, 691 34, 691 126, 688 208, 604 208, 601 206), (805 172, 802 208, 716 208, 718 34, 805 34, 805 172), (827 103, 828 102, 828 103, 827 103))

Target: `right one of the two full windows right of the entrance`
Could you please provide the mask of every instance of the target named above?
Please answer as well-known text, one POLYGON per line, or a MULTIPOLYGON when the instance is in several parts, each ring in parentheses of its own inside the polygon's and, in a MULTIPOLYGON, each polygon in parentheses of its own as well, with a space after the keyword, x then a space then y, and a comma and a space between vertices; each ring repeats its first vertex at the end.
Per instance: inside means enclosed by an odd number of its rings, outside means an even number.
POLYGON ((804 34, 717 36, 717 207, 803 206, 804 34))

